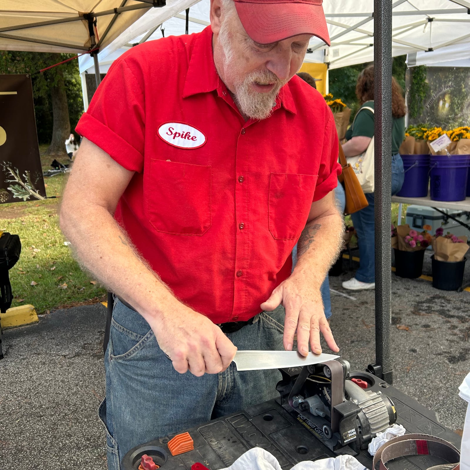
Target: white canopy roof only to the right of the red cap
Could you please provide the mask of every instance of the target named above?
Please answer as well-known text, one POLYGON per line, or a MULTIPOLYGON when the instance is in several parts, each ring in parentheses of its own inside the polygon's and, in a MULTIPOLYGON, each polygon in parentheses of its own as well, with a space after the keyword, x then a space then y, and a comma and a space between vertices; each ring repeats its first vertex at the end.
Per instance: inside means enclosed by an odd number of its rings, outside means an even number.
MULTIPOLYGON (((392 1, 392 0, 390 0, 392 1)), ((374 60, 372 0, 324 0, 331 46, 313 38, 331 69, 374 60)), ((470 2, 461 0, 394 0, 392 55, 437 51, 470 38, 470 2)), ((307 55, 306 60, 310 60, 307 55)))

